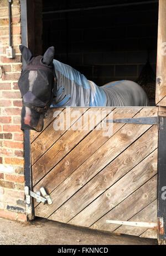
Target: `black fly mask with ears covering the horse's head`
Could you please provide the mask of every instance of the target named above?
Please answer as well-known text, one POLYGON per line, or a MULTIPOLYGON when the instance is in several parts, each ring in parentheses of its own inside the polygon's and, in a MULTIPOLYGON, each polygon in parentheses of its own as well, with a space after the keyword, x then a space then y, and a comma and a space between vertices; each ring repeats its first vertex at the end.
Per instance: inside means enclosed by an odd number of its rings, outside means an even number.
POLYGON ((44 114, 54 96, 54 47, 50 47, 44 56, 38 57, 33 57, 30 50, 23 45, 19 48, 27 63, 18 80, 23 97, 21 129, 39 132, 43 130, 44 114))

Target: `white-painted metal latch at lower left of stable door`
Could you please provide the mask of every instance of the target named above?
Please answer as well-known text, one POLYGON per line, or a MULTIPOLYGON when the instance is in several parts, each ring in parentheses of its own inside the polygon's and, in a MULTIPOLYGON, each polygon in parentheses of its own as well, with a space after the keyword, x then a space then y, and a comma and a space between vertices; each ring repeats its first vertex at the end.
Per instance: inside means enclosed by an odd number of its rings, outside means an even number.
POLYGON ((26 196, 26 203, 30 204, 30 197, 37 199, 37 202, 43 202, 44 204, 47 202, 48 204, 52 204, 52 200, 49 194, 46 193, 44 187, 40 188, 40 191, 34 193, 33 191, 29 190, 28 186, 25 186, 25 196, 26 196), (40 192, 43 194, 44 197, 40 196, 40 192))

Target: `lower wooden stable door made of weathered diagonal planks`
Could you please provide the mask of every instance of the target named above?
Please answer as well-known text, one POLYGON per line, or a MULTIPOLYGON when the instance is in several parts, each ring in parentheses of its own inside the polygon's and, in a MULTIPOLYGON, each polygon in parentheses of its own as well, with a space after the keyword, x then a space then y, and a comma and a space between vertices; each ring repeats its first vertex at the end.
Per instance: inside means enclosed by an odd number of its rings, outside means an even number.
POLYGON ((157 223, 158 126, 112 124, 110 135, 101 129, 110 113, 152 117, 158 107, 50 109, 43 131, 31 132, 33 191, 44 187, 53 201, 34 200, 35 216, 157 238, 155 228, 106 223, 157 223), (65 129, 57 130, 59 124, 65 129))

